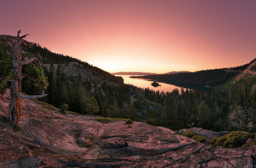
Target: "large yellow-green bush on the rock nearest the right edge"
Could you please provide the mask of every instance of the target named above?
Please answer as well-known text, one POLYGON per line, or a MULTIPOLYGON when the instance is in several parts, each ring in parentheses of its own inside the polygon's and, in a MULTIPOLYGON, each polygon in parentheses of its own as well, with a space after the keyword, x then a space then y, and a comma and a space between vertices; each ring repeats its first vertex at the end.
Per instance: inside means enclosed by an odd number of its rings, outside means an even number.
POLYGON ((254 138, 255 135, 242 131, 233 131, 222 137, 216 137, 209 141, 209 145, 213 147, 222 146, 226 148, 240 147, 245 144, 248 138, 254 138))

